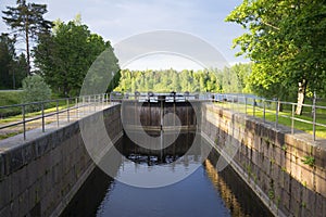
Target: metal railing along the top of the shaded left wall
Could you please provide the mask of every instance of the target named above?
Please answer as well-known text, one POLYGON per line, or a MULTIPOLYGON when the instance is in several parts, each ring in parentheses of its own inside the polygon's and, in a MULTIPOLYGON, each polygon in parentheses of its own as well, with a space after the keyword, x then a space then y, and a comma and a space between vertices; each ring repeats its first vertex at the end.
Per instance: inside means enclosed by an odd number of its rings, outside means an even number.
POLYGON ((22 111, 21 114, 14 117, 2 118, 8 120, 8 124, 0 124, 0 130, 22 126, 17 133, 23 133, 24 140, 26 140, 26 131, 29 130, 27 129, 28 123, 40 120, 40 124, 36 123, 37 127, 34 128, 41 126, 42 132, 45 132, 47 118, 49 117, 52 117, 50 123, 57 122, 57 127, 59 127, 60 122, 70 123, 74 118, 78 119, 89 113, 102 110, 109 103, 111 103, 109 94, 102 93, 0 106, 0 113, 1 110, 16 110, 17 107, 22 111), (60 117, 60 115, 63 117, 60 117), (12 118, 13 120, 11 120, 12 118))

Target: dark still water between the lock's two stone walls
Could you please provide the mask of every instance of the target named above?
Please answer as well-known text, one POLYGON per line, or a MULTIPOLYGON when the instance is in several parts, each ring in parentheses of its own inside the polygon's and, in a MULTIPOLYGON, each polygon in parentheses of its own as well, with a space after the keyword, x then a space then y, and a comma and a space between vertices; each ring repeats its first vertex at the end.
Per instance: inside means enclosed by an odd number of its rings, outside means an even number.
POLYGON ((128 186, 96 168, 62 216, 272 216, 230 168, 216 173, 215 151, 201 161, 198 153, 210 150, 204 140, 200 139, 201 150, 184 155, 193 138, 193 133, 180 135, 162 151, 146 150, 124 138, 116 146, 133 161, 122 159, 116 177, 141 175, 150 180, 155 174, 174 176, 198 168, 186 179, 161 188, 128 186), (181 161, 171 164, 176 159, 181 161))

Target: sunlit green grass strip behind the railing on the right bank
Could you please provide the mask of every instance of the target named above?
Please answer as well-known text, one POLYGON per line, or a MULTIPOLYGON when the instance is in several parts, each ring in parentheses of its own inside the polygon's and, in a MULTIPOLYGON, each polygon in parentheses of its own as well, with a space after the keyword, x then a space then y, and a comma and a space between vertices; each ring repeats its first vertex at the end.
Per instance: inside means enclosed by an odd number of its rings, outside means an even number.
MULTIPOLYGON (((223 102, 223 103, 218 103, 218 105, 222 107, 225 107, 225 108, 231 108, 231 110, 236 110, 236 111, 239 111, 242 113, 244 113, 244 111, 246 111, 246 106, 243 104, 236 105, 236 104, 223 102)), ((325 106, 326 101, 318 102, 317 105, 325 106)), ((272 105, 272 107, 275 107, 275 106, 272 105)), ((255 107, 255 110, 253 111, 253 106, 248 105, 247 114, 253 115, 253 113, 254 113, 254 116, 260 117, 260 118, 263 118, 263 116, 264 116, 262 107, 255 107)), ((291 105, 285 105, 283 112, 279 112, 278 124, 287 126, 287 127, 291 127, 291 125, 292 125, 291 116, 292 116, 291 105)), ((313 122, 313 117, 312 117, 310 107, 304 107, 302 115, 294 115, 294 117, 303 119, 303 120, 308 120, 308 122, 313 122)), ((269 120, 269 122, 276 122, 275 110, 266 108, 265 118, 266 118, 266 120, 269 120)), ((326 110, 322 110, 322 108, 316 110, 316 123, 326 125, 326 110)), ((302 130, 302 131, 305 131, 311 135, 313 133, 313 125, 312 124, 303 123, 300 120, 294 120, 293 125, 294 125, 294 129, 302 130)), ((326 138, 326 127, 316 126, 315 129, 316 129, 316 137, 326 138)))

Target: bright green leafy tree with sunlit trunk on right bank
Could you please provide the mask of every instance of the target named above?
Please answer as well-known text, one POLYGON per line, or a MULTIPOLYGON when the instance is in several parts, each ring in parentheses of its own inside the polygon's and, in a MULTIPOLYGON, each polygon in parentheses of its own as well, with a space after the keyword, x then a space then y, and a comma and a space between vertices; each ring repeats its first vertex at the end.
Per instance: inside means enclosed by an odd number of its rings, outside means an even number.
POLYGON ((250 30, 234 43, 254 62, 254 91, 286 98, 297 86, 297 114, 306 90, 325 91, 325 11, 319 0, 244 0, 226 17, 250 30))

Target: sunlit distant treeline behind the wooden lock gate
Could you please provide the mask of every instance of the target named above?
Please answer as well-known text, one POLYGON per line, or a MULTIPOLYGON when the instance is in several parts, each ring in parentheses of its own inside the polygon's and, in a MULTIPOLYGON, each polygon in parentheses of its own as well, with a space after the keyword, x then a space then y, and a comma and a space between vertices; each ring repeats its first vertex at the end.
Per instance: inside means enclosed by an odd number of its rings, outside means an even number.
POLYGON ((121 72, 120 85, 123 92, 243 92, 251 73, 250 64, 238 64, 229 68, 187 71, 129 71, 121 72))

